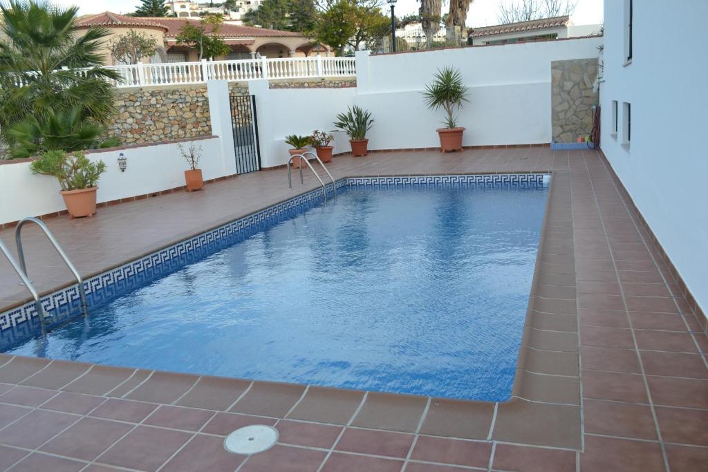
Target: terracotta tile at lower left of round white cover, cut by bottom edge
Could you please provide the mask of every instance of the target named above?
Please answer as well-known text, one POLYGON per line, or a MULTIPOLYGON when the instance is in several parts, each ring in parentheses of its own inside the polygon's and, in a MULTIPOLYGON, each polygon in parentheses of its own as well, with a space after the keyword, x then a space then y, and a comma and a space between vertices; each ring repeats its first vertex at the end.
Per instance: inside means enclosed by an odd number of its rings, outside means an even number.
POLYGON ((246 456, 224 449, 224 439, 197 434, 161 469, 164 472, 234 472, 246 456))

